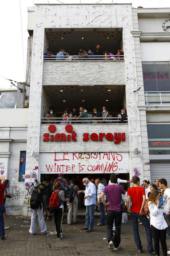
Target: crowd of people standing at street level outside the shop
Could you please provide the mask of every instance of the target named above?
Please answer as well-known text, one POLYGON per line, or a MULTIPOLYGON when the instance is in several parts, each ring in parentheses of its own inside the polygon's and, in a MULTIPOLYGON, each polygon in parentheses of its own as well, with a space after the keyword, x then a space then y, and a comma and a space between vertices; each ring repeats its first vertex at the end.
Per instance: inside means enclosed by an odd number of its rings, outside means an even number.
MULTIPOLYGON (((87 233, 94 229, 94 211, 96 205, 100 211, 100 221, 98 226, 105 225, 107 212, 107 240, 110 250, 119 250, 121 248, 121 224, 127 213, 131 214, 134 240, 138 253, 142 252, 143 246, 138 231, 138 219, 143 224, 148 244, 148 254, 159 256, 159 241, 163 255, 170 254, 166 246, 166 233, 170 238, 170 189, 167 187, 166 179, 155 179, 155 183, 149 180, 143 180, 140 185, 140 179, 134 176, 131 180, 121 180, 112 173, 107 185, 107 179, 104 177, 96 180, 85 177, 81 181, 77 175, 72 180, 64 179, 64 174, 60 173, 58 178, 54 177, 50 181, 43 183, 37 181, 33 184, 33 193, 29 204, 31 207, 31 226, 29 233, 34 235, 36 232, 35 218, 38 215, 41 234, 48 233, 45 219, 52 220, 55 223, 57 240, 63 238, 62 222, 64 208, 66 207, 67 224, 71 225, 72 213, 73 224, 77 224, 77 211, 80 195, 84 194, 84 204, 86 206, 85 226, 81 230, 87 233), (123 205, 122 196, 125 190, 119 183, 133 182, 133 186, 128 188, 126 210, 123 205), (83 187, 84 185, 84 187, 83 187), (83 190, 82 190, 83 188, 83 190), (131 207, 129 204, 131 201, 131 207), (154 241, 154 249, 152 245, 154 241)), ((4 239, 4 198, 10 196, 6 188, 9 186, 9 180, 0 183, 0 236, 4 239)), ((126 218, 125 218, 126 219, 126 218)), ((128 219, 126 219, 127 221, 128 219)), ((140 224, 140 223, 139 223, 140 224)))

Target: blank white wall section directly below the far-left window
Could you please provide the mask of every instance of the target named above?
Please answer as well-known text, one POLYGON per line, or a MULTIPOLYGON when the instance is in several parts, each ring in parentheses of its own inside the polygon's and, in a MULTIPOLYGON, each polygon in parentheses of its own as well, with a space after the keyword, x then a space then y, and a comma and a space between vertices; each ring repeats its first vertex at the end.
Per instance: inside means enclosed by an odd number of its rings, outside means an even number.
POLYGON ((27 127, 28 108, 0 108, 0 127, 27 127))

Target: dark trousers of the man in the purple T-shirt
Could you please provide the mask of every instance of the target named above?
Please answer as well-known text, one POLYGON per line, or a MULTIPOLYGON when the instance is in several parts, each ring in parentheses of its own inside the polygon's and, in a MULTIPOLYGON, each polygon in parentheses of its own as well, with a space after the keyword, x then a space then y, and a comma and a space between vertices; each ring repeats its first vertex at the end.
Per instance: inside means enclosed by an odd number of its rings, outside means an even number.
POLYGON ((117 248, 121 242, 122 211, 107 210, 107 240, 113 241, 117 248), (115 236, 113 238, 113 223, 115 220, 115 236))

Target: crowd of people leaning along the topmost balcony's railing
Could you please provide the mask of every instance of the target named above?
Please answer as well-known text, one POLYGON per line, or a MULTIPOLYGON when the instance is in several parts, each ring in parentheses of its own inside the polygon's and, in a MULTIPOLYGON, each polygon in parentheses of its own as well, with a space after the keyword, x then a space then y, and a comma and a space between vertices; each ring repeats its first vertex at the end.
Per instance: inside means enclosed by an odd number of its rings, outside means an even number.
POLYGON ((124 53, 121 50, 121 48, 117 49, 117 53, 114 55, 111 52, 105 51, 102 52, 100 49, 100 44, 97 44, 95 51, 93 52, 92 47, 90 46, 88 48, 88 51, 86 52, 84 50, 83 46, 79 46, 79 52, 78 55, 72 55, 70 56, 69 52, 66 52, 64 49, 60 49, 56 55, 54 55, 50 48, 47 49, 47 51, 44 53, 44 60, 124 60, 124 53), (56 56, 56 57, 53 57, 56 56))

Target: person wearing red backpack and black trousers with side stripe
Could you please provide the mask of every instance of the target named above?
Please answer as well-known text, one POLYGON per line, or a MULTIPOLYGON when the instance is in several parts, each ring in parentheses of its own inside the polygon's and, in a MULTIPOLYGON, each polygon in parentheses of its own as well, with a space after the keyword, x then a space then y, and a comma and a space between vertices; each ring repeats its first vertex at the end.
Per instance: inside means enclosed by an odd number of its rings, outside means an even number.
POLYGON ((62 228, 61 225, 63 223, 63 214, 64 214, 64 204, 63 202, 65 201, 70 201, 69 198, 65 198, 64 196, 64 191, 62 190, 62 182, 61 180, 56 179, 54 181, 54 187, 53 187, 53 194, 51 195, 50 198, 50 208, 51 208, 51 202, 52 202, 52 198, 54 198, 53 202, 56 202, 56 207, 53 207, 53 214, 54 214, 54 218, 55 218, 55 227, 56 227, 56 232, 57 232, 57 240, 63 238, 62 235, 62 228), (54 196, 55 194, 55 196, 54 196), (56 200, 55 200, 56 199, 56 200), (56 209, 54 209, 56 208, 56 209))

